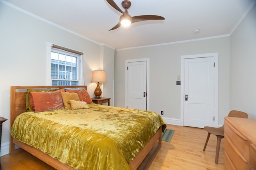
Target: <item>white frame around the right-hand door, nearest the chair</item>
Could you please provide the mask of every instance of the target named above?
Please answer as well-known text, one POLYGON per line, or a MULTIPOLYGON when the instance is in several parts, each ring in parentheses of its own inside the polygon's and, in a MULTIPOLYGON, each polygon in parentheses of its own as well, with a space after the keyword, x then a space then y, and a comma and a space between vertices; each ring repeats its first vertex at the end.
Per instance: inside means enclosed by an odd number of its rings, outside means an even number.
POLYGON ((193 58, 205 58, 214 57, 214 127, 219 127, 218 125, 218 57, 219 53, 205 53, 196 55, 182 55, 180 56, 180 125, 184 126, 184 60, 193 58))

